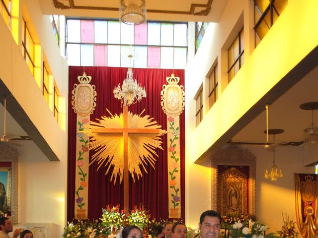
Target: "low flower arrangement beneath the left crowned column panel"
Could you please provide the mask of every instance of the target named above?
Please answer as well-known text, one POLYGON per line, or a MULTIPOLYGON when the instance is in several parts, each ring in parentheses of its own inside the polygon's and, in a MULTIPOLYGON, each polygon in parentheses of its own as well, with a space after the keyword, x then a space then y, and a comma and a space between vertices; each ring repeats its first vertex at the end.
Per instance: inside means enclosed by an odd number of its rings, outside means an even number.
POLYGON ((102 227, 98 221, 75 220, 64 227, 64 238, 96 238, 107 234, 107 228, 102 227))

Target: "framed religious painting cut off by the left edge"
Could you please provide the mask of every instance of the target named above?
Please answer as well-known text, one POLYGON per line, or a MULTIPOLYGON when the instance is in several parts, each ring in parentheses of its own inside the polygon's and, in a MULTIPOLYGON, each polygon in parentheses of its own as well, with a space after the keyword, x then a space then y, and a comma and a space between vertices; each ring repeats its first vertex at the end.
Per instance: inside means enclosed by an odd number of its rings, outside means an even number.
POLYGON ((11 207, 11 168, 0 167, 0 210, 11 207))

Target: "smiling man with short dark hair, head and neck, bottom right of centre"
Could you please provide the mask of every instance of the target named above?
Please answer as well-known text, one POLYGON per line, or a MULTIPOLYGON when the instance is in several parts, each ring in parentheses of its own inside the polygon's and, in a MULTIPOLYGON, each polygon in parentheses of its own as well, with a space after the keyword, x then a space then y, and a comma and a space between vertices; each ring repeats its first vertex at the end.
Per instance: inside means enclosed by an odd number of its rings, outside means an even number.
POLYGON ((218 238, 220 235, 222 217, 213 210, 205 211, 200 216, 200 238, 218 238))

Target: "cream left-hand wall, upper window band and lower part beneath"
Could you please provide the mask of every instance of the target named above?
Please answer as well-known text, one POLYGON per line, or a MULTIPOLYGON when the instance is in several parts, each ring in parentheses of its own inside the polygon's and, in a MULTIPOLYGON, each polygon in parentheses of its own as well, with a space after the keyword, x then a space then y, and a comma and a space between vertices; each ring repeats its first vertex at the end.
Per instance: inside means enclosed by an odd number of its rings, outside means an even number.
MULTIPOLYGON (((21 20, 22 0, 19 3, 21 20)), ((60 228, 58 233, 62 234, 66 221, 68 65, 60 55, 49 16, 42 15, 37 0, 25 0, 24 3, 37 34, 36 43, 41 45, 41 59, 45 53, 61 93, 62 120, 59 126, 42 95, 42 88, 39 88, 21 55, 21 39, 17 45, 0 17, 0 79, 60 159, 60 162, 50 162, 32 141, 23 142, 26 145, 18 148, 19 224, 16 226, 55 223, 60 228)), ((21 24, 19 28, 21 30, 21 24)))

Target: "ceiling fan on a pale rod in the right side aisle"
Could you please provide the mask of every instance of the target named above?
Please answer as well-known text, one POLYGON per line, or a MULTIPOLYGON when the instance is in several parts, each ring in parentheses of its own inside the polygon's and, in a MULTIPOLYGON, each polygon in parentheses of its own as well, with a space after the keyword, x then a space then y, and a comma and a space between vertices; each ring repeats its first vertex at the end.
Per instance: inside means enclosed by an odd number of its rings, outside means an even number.
POLYGON ((265 109, 266 109, 266 130, 264 130, 264 133, 266 134, 266 143, 253 143, 253 142, 233 142, 232 140, 230 140, 228 142, 228 144, 237 144, 240 146, 245 146, 245 147, 263 147, 263 148, 267 148, 269 150, 273 150, 273 147, 275 146, 298 146, 303 144, 303 141, 300 142, 281 142, 281 143, 276 143, 275 144, 275 134, 280 134, 283 133, 284 130, 283 129, 268 129, 268 107, 269 105, 266 104, 265 105, 265 109), (270 143, 268 140, 268 135, 273 135, 274 136, 274 141, 273 143, 270 143))

